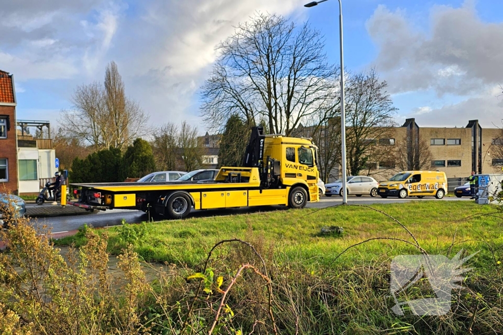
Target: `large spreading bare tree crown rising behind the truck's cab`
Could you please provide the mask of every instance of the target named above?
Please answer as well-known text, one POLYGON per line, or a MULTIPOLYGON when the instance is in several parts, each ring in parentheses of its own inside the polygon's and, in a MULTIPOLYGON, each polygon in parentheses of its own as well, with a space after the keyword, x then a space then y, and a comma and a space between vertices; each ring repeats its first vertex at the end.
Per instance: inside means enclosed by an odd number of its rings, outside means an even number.
POLYGON ((202 87, 205 121, 221 131, 231 115, 248 125, 265 119, 269 132, 290 136, 337 95, 337 70, 323 47, 318 31, 282 16, 258 14, 239 24, 218 46, 220 56, 202 87))

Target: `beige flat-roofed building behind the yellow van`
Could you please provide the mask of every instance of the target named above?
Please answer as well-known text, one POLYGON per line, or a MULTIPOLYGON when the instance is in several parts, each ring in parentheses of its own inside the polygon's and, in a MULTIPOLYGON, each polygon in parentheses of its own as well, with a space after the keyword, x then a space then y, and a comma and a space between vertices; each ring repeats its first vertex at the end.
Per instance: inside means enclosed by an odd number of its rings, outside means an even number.
MULTIPOLYGON (((395 148, 405 140, 405 135, 417 132, 421 141, 427 142, 432 153, 430 170, 444 171, 447 178, 459 183, 475 173, 502 173, 503 167, 503 132, 498 128, 482 128, 478 120, 471 120, 466 127, 429 128, 420 127, 414 119, 407 119, 401 127, 396 127, 390 133, 389 139, 376 139, 376 145, 388 142, 395 148)), ((389 152, 392 148, 390 146, 389 152)), ((400 152, 396 151, 396 154, 400 152)), ((390 156, 391 157, 391 156, 390 156)), ((388 157, 383 157, 385 162, 388 157)), ((397 172, 393 164, 376 162, 369 175, 377 180, 386 180, 397 172)))

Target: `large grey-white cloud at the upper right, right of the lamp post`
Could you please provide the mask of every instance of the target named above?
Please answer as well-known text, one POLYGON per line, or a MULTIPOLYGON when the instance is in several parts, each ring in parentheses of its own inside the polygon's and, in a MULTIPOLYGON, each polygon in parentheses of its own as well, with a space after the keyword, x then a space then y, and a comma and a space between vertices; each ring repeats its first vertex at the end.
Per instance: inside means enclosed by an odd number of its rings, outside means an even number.
POLYGON ((379 49, 377 68, 392 92, 470 95, 503 81, 503 23, 482 22, 471 3, 434 6, 428 33, 409 21, 404 11, 382 5, 367 21, 379 49))

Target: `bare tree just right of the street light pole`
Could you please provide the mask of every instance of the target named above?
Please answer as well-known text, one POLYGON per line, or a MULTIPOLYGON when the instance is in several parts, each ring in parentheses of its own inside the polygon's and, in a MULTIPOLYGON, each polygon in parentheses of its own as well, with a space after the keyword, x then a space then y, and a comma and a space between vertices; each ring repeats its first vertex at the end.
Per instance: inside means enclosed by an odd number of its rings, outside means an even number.
POLYGON ((348 170, 358 175, 375 162, 383 162, 386 146, 377 146, 387 139, 394 126, 393 106, 386 81, 380 81, 375 69, 350 76, 346 91, 346 150, 348 170))

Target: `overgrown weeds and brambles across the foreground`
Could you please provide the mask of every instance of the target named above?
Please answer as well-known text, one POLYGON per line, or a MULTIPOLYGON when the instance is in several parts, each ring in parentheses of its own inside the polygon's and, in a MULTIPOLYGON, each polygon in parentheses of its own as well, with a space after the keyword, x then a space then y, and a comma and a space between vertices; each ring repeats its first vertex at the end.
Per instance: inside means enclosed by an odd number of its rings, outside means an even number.
MULTIPOLYGON (((489 334, 503 329, 502 255, 496 245, 477 254, 488 261, 476 262, 483 267, 468 273, 463 289, 454 290, 449 313, 396 315, 390 260, 391 249, 402 242, 372 241, 381 243, 372 259, 354 257, 362 244, 339 258, 331 255, 333 264, 306 262, 305 249, 292 252, 284 235, 267 238, 249 216, 244 218, 242 239, 218 241, 191 267, 140 262, 135 248, 145 246, 152 228, 125 226, 119 232, 119 279, 109 271, 106 233, 83 228, 82 247, 70 248, 64 258, 46 228, 19 222, 1 237, 8 250, 0 254, 0 333, 489 334), (146 267, 154 280, 146 279, 146 267)), ((412 253, 421 254, 421 238, 407 235, 417 243, 412 253)), ((446 255, 466 247, 455 240, 450 237, 446 255)), ((403 298, 432 297, 426 278, 417 283, 403 298)))

